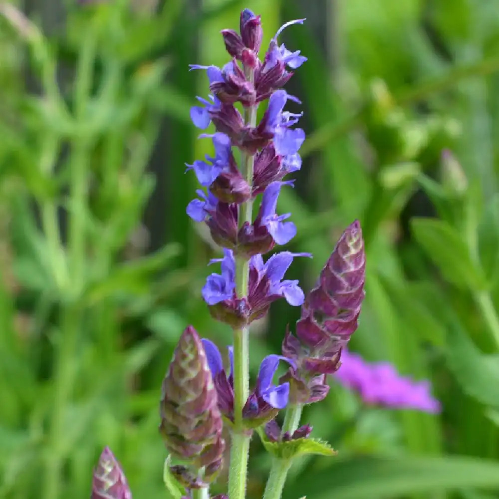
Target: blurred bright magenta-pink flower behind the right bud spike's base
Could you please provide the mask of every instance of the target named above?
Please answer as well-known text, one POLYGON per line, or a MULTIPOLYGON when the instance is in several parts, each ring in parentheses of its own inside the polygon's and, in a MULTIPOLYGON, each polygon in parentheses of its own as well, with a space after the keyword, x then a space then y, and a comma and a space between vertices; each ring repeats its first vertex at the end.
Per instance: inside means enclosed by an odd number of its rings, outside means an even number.
POLYGON ((343 386, 358 391, 369 405, 429 413, 441 411, 428 381, 403 377, 387 362, 370 364, 359 354, 343 349, 341 367, 334 377, 343 386))

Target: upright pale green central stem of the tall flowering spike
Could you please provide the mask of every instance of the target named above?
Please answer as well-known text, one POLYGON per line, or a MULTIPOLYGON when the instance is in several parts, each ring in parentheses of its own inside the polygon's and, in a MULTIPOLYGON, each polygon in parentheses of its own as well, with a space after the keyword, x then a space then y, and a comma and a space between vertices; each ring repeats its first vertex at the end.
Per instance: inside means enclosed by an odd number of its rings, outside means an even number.
MULTIPOLYGON (((245 67, 248 81, 253 81, 253 69, 245 67)), ((245 108, 245 123, 251 127, 256 124, 256 105, 245 108)), ((251 186, 253 183, 254 156, 241 154, 241 173, 251 186)), ((252 200, 240 206, 239 225, 253 221, 252 200)), ((248 295, 249 262, 247 258, 237 259, 236 292, 239 297, 248 295)), ((246 497, 246 480, 251 434, 244 428, 243 407, 250 393, 250 346, 249 327, 234 331, 234 428, 231 439, 231 462, 229 468, 229 498, 246 497)))

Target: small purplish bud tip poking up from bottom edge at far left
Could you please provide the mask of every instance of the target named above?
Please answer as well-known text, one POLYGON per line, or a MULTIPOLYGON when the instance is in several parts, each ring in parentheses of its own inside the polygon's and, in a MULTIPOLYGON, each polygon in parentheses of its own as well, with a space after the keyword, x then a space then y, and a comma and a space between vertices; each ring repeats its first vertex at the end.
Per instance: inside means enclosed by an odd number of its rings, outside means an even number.
POLYGON ((91 499, 132 499, 125 474, 109 447, 102 451, 94 470, 91 499))

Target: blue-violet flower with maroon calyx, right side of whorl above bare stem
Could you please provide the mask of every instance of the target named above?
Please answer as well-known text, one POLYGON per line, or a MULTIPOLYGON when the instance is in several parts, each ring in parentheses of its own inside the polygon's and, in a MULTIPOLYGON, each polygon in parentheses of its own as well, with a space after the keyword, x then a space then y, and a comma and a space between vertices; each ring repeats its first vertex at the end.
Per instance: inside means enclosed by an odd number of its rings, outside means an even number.
POLYGON ((250 258, 250 304, 254 308, 265 307, 277 297, 284 297, 293 306, 299 306, 305 298, 297 280, 282 280, 295 256, 312 257, 310 253, 282 251, 273 254, 265 263, 260 254, 250 258))

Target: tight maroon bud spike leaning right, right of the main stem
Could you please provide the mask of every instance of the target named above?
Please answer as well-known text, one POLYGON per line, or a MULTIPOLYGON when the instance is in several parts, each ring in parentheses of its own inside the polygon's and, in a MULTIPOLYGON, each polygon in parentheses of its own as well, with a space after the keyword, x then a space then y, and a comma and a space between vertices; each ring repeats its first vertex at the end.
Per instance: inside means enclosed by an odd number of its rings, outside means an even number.
POLYGON ((318 402, 327 395, 326 376, 339 368, 341 350, 357 329, 364 282, 364 241, 355 221, 341 235, 307 294, 296 336, 287 331, 282 342, 282 354, 297 365, 284 376, 295 403, 318 402))

